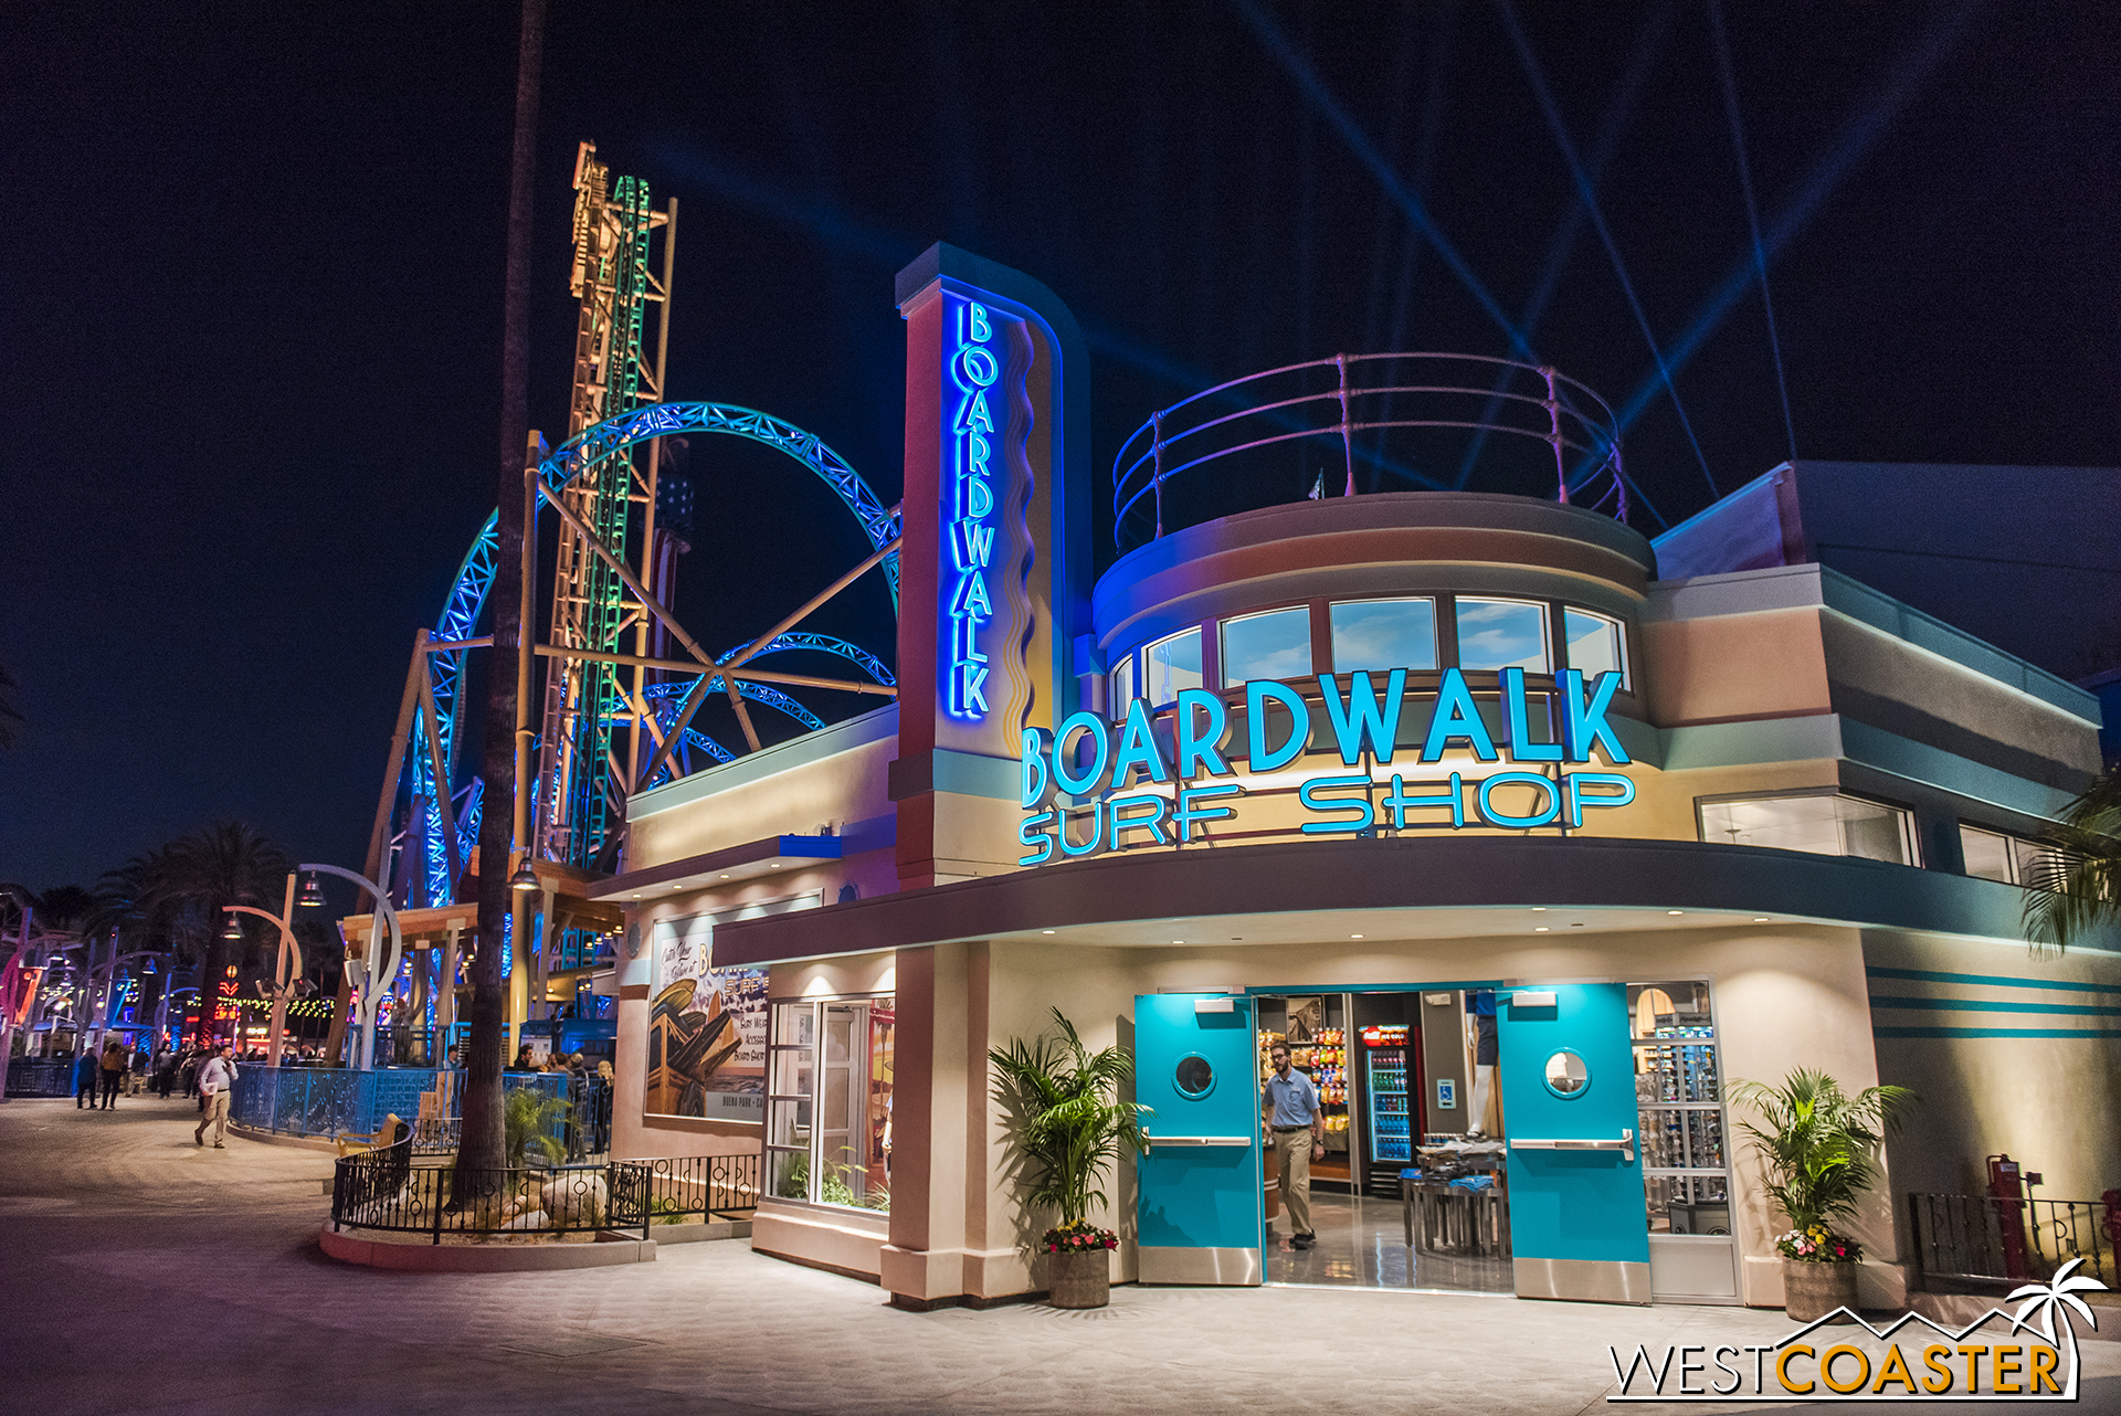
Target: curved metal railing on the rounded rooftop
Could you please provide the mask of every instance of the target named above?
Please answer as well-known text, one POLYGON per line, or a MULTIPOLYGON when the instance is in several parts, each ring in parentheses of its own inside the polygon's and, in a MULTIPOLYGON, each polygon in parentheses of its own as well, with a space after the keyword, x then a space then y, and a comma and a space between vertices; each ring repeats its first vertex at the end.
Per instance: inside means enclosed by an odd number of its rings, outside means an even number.
MULTIPOLYGON (((1387 407, 1385 413, 1389 411, 1391 409, 1387 407)), ((1623 521, 1627 519, 1627 479, 1620 464, 1620 420, 1589 384, 1572 379, 1550 365, 1527 365, 1523 360, 1497 358, 1491 354, 1447 354, 1421 350, 1391 354, 1334 354, 1332 358, 1281 365, 1279 369, 1264 369, 1260 373, 1247 373, 1243 377, 1215 384, 1213 388, 1205 388, 1188 399, 1179 399, 1167 409, 1158 409, 1147 418, 1147 422, 1135 428, 1135 432, 1120 445, 1120 452, 1111 462, 1114 541, 1122 551, 1130 549, 1130 536, 1139 543, 1141 528, 1137 521, 1145 500, 1150 500, 1154 509, 1152 536, 1160 538, 1167 530, 1175 530, 1164 505, 1164 488, 1181 473, 1190 473, 1222 458, 1256 452, 1260 447, 1273 447, 1277 443, 1313 437, 1338 437, 1345 466, 1343 494, 1353 496, 1355 462, 1379 462, 1372 454, 1360 454, 1355 449, 1357 435, 1402 428, 1455 428, 1480 435, 1502 432, 1546 443, 1555 456, 1555 500, 1570 502, 1572 490, 1584 488, 1606 475, 1610 485, 1601 492, 1595 507, 1603 509, 1610 502, 1614 507, 1614 517, 1623 521), (1500 377, 1487 388, 1406 379, 1366 386, 1360 377, 1351 377, 1351 371, 1360 375, 1364 365, 1406 360, 1480 365, 1500 371, 1500 377), (1232 390, 1262 379, 1324 369, 1334 371, 1332 388, 1247 403, 1245 407, 1222 411, 1213 418, 1184 422, 1184 426, 1177 422, 1188 409, 1194 409, 1194 405, 1200 405, 1205 399, 1228 399, 1232 390), (1538 379, 1538 392, 1527 394, 1512 390, 1508 382, 1517 375, 1531 375, 1538 379), (1485 399, 1487 407, 1478 418, 1364 418, 1353 407, 1362 399, 1391 399, 1402 394, 1427 399, 1485 399), (1319 403, 1330 405, 1334 415, 1330 422, 1311 424, 1307 420, 1307 411, 1319 403), (1495 409, 1506 407, 1519 407, 1525 411, 1538 409, 1544 413, 1544 418, 1538 420, 1544 426, 1500 422, 1495 409), (1217 430, 1234 430, 1234 424, 1247 418, 1264 418, 1275 430, 1249 439, 1239 437, 1230 445, 1215 445, 1209 452, 1188 456, 1181 462, 1171 460, 1173 452, 1177 452, 1181 443, 1188 443, 1188 439, 1196 439, 1186 447, 1186 452, 1192 452, 1200 445, 1198 439, 1211 437, 1217 430), (1567 468, 1567 460, 1572 456, 1580 458, 1576 473, 1570 473, 1567 468)))

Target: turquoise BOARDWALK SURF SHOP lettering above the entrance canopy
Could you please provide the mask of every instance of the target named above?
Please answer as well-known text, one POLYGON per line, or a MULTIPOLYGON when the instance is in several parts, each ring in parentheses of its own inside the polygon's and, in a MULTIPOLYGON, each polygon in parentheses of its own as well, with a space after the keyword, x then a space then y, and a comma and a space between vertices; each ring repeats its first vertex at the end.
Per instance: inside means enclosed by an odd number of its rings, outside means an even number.
POLYGON ((1495 676, 1489 710, 1500 733, 1457 668, 1444 670, 1434 693, 1415 695, 1406 670, 1383 683, 1368 672, 1319 674, 1324 712, 1294 687, 1260 678, 1245 685, 1234 731, 1230 704, 1205 689, 1181 691, 1164 721, 1152 721, 1141 700, 1116 723, 1075 712, 1058 731, 1022 733, 1020 865, 1190 844, 1211 829, 1239 833, 1247 795, 1285 799, 1290 789, 1302 835, 1582 827, 1587 812, 1635 799, 1627 776, 1599 769, 1629 765, 1608 719, 1618 687, 1614 672, 1591 680, 1578 670, 1557 674, 1555 742, 1531 733, 1548 710, 1527 693, 1521 668, 1495 676), (1427 710, 1419 742, 1402 736, 1402 721, 1419 723, 1408 710, 1427 710), (1307 753, 1362 769, 1292 772, 1307 753), (1468 774, 1468 765, 1478 769, 1468 774))

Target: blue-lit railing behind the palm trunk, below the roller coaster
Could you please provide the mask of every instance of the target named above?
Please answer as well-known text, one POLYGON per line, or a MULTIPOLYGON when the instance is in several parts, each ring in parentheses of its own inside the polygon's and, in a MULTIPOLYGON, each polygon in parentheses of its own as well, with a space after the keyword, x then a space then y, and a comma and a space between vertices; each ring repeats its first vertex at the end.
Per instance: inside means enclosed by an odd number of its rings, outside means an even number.
MULTIPOLYGON (((505 1073, 509 1092, 530 1087, 575 1102, 551 1138, 571 1155, 602 1153, 611 1145, 611 1102, 602 1079, 568 1085, 566 1073, 505 1073)), ((380 1066, 348 1073, 318 1066, 238 1066, 229 1121, 276 1136, 369 1136, 397 1115, 414 1126, 416 1149, 454 1149, 462 1119, 464 1073, 433 1066, 380 1066), (443 1085, 443 1079, 448 1081, 443 1085), (439 1115, 420 1117, 420 1098, 441 1094, 439 1115)))

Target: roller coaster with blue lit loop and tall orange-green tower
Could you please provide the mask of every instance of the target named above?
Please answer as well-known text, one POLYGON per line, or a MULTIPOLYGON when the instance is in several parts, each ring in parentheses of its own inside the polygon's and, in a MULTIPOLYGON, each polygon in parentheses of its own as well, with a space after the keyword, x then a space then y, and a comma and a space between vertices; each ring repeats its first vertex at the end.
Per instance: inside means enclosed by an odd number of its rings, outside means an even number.
MULTIPOLYGON (((774 708, 802 731, 825 727, 789 689, 880 697, 897 691, 882 657, 797 627, 872 568, 882 568, 897 608, 897 507, 884 507, 814 432, 757 409, 666 401, 677 214, 677 199, 658 210, 645 180, 613 176, 594 142, 579 146, 568 428, 549 452, 532 435, 526 466, 537 502, 560 521, 549 583, 526 581, 524 589, 524 634, 543 680, 532 670, 532 700, 522 706, 534 733, 534 767, 518 784, 528 801, 513 859, 537 873, 543 909, 532 916, 532 945, 515 941, 511 962, 526 962, 541 977, 577 971, 596 952, 604 933, 600 909, 579 899, 568 909, 571 901, 556 897, 579 897, 588 880, 615 869, 630 795, 757 750, 751 706, 774 708), (834 490, 870 545, 870 555, 834 585, 721 653, 708 653, 670 610, 677 562, 689 551, 691 481, 672 466, 664 441, 694 435, 740 437, 781 452, 834 490), (539 619, 543 636, 532 634, 539 619), (831 655, 859 676, 757 666, 789 653, 831 655), (742 742, 723 744, 694 727, 700 706, 717 693, 728 700, 742 742)), ((532 517, 526 536, 534 534, 532 517)), ((473 869, 479 818, 492 808, 484 780, 462 761, 462 742, 471 721, 471 653, 492 644, 479 621, 496 560, 498 513, 473 536, 433 627, 416 636, 369 837, 367 873, 386 884, 414 928, 422 916, 435 916, 441 931, 441 916, 450 916, 452 975, 458 935, 477 909, 477 892, 462 878, 473 869)), ((526 564, 534 568, 534 557, 526 564)), ((441 950, 431 954, 439 984, 441 950)), ((450 1013, 441 1007, 435 1020, 448 1024, 450 1013)), ((524 1017, 526 1009, 511 1007, 511 1024, 524 1017)))

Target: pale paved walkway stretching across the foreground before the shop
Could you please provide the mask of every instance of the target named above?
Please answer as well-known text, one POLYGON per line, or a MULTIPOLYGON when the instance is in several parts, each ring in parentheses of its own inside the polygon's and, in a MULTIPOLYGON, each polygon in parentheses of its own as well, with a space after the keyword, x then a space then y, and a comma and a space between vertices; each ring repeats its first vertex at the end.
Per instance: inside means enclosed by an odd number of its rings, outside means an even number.
MULTIPOLYGON (((153 1098, 0 1104, 0 1410, 1578 1416, 1642 1410, 1608 1408, 1608 1344, 1790 1331, 1729 1308, 1321 1289, 908 1314, 740 1240, 560 1274, 382 1274, 316 1246, 327 1155, 201 1151, 191 1117, 153 1098)), ((2121 1412, 2121 1344, 2083 1361, 2076 1410, 2121 1412)))

